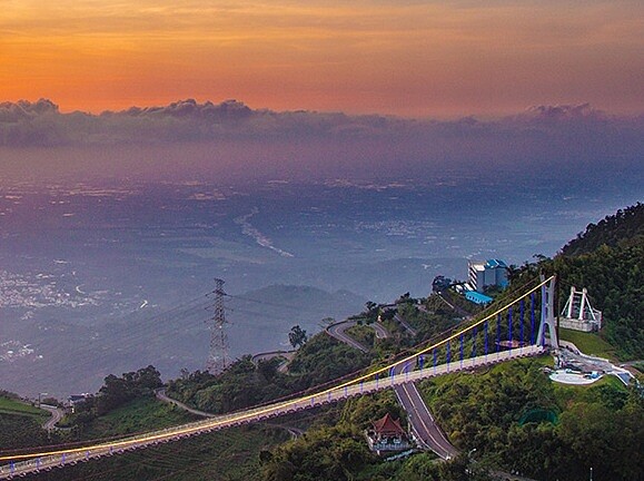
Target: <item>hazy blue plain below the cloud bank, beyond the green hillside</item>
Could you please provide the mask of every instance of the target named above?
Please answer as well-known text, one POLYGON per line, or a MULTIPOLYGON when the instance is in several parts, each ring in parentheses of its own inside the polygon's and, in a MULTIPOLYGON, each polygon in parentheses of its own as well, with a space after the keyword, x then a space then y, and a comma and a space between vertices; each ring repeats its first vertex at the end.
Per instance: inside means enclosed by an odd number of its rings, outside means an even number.
POLYGON ((226 279, 232 356, 287 347, 367 300, 426 295, 467 258, 523 264, 638 199, 636 179, 587 187, 466 176, 13 184, 0 192, 0 374, 27 395, 96 390, 153 364, 201 369, 212 278, 226 279))

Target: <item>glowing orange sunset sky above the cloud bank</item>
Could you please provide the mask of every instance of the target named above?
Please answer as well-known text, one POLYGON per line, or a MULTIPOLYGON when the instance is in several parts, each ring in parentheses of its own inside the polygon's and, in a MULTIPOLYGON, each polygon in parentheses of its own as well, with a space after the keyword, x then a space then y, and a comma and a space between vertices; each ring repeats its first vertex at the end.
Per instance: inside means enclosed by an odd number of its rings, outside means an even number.
POLYGON ((63 111, 250 107, 494 115, 644 111, 641 0, 13 0, 0 101, 63 111))

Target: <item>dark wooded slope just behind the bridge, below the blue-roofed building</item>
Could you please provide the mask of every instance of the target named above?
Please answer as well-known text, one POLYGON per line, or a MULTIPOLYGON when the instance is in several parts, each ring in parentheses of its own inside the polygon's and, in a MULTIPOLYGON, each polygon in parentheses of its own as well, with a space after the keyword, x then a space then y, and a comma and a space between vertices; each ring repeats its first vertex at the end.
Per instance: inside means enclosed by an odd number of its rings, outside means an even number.
POLYGON ((247 355, 216 376, 201 371, 185 373, 181 379, 168 383, 168 394, 201 411, 217 414, 235 411, 304 392, 374 366, 412 345, 454 327, 458 322, 455 313, 434 297, 424 300, 424 310, 418 307, 416 300, 408 298, 408 294, 407 298, 403 298, 408 302, 398 303, 395 311, 389 311, 390 315, 383 316, 383 323, 392 334, 388 338, 375 338, 374 331, 365 325, 378 317, 380 310, 377 304, 367 303, 367 310, 354 316, 359 325, 349 332, 354 332, 358 341, 371 347, 368 353, 320 332, 297 350, 288 365, 288 373, 278 370, 278 359, 254 364, 247 355), (393 318, 395 312, 418 331, 416 336, 406 333, 393 318))

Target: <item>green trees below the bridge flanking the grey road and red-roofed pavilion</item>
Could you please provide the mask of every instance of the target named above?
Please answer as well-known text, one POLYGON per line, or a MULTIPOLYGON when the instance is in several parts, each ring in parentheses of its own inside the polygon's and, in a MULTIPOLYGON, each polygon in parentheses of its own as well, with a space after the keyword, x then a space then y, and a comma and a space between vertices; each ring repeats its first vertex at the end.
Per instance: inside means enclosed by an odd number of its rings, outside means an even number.
POLYGON ((348 400, 337 420, 261 454, 262 481, 491 480, 495 470, 538 480, 641 480, 644 399, 616 377, 563 386, 544 373, 549 357, 420 383, 424 397, 462 455, 437 463, 432 453, 383 462, 361 432, 384 412, 405 420, 392 392, 348 400), (466 453, 476 453, 472 463, 466 453))

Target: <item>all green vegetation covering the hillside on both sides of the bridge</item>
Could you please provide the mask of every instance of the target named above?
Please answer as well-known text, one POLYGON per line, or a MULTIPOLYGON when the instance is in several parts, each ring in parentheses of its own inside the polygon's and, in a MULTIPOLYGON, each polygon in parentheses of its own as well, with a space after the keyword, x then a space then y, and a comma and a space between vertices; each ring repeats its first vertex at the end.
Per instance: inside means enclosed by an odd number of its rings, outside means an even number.
MULTIPOLYGON (((642 356, 642 210, 638 204, 606 217, 554 259, 541 258, 514 271, 511 289, 499 297, 533 281, 539 271, 556 272, 563 295, 569 285, 587 287, 594 305, 604 311, 602 335, 610 344, 594 342, 596 349, 610 352, 613 346, 623 356, 642 356)), ((204 411, 240 410, 380 365, 409 345, 457 325, 454 311, 436 296, 423 300, 422 305, 408 295, 399 301, 382 316, 393 334, 389 338, 374 338, 366 325, 350 331, 371 347, 369 353, 323 332, 300 346, 288 372, 278 369, 279 359, 254 363, 250 356, 244 356, 216 376, 186 372, 169 382, 168 393, 204 411), (395 314, 418 334, 412 337, 395 314)), ((368 324, 378 313, 375 303, 367 303, 367 311, 356 320, 368 324)), ((455 373, 419 383, 439 424, 462 452, 446 463, 437 463, 429 453, 385 463, 368 451, 363 432, 371 421, 386 412, 404 422, 406 419, 393 392, 382 392, 313 411, 307 414, 313 421, 306 423, 306 435, 296 440, 287 441, 284 430, 264 425, 231 429, 46 473, 40 479, 487 481, 492 471, 503 469, 539 480, 575 481, 585 479, 593 468, 597 479, 642 480, 641 391, 612 377, 592 386, 557 385, 544 372, 551 363, 549 357, 514 361, 480 369, 476 375, 455 373), (476 463, 472 462, 473 453, 476 463)), ((121 435, 190 420, 190 415, 153 399, 159 385, 153 366, 106 377, 99 395, 90 397, 72 418, 76 431, 71 434, 76 439, 121 435)), ((12 425, 2 414, 0 422, 8 432, 18 431, 18 424, 12 425)), ((298 419, 291 416, 288 422, 298 423, 298 419)), ((26 435, 48 442, 41 430, 37 434, 37 425, 23 425, 26 435)), ((23 436, 14 445, 28 443, 23 436)))

